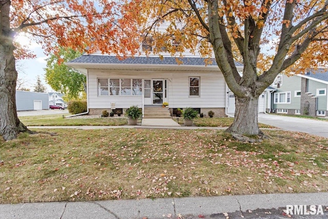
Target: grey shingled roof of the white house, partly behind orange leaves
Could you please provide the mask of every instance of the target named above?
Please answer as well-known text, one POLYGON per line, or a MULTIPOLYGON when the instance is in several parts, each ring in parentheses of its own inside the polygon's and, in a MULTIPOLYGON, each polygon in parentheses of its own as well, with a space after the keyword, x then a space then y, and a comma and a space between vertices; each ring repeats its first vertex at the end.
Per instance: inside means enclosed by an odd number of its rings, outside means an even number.
MULTIPOLYGON (((202 57, 183 57, 178 58, 183 62, 182 65, 205 65, 202 57)), ((99 63, 99 64, 145 64, 145 65, 178 65, 175 57, 163 57, 160 59, 158 56, 135 56, 129 57, 123 60, 119 60, 113 55, 81 55, 70 61, 69 63, 99 63)), ((235 62, 236 66, 242 66, 242 64, 235 62)), ((212 58, 212 64, 209 66, 216 66, 215 58, 212 58)))

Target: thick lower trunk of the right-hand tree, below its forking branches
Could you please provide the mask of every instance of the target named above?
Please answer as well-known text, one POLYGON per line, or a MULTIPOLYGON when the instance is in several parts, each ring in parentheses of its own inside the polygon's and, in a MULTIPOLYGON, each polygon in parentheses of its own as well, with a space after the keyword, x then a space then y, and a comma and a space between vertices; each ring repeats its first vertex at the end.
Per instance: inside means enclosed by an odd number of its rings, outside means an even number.
POLYGON ((257 122, 258 96, 235 98, 235 119, 227 131, 240 135, 261 135, 257 122))

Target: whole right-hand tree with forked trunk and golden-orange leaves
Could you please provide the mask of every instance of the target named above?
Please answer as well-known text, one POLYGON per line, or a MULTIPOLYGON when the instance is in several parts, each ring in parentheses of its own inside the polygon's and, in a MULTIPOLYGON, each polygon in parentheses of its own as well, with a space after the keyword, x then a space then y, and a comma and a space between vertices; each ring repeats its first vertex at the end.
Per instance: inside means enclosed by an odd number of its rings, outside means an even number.
POLYGON ((228 129, 234 136, 262 136, 257 124, 258 96, 277 74, 328 66, 327 0, 145 0, 137 4, 142 4, 140 15, 148 18, 143 35, 151 36, 155 54, 166 47, 172 55, 189 50, 215 56, 236 98, 234 123, 228 129), (163 20, 170 24, 158 32, 163 20), (179 45, 173 46, 173 40, 179 45), (242 74, 236 58, 244 66, 242 74))

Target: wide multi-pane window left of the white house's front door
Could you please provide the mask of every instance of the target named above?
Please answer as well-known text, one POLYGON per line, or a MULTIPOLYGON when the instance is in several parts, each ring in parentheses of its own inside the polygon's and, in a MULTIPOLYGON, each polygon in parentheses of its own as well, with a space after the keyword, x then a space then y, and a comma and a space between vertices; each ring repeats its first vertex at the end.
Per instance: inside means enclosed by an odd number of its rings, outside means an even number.
POLYGON ((98 78, 98 96, 108 95, 140 96, 142 95, 142 79, 98 78))

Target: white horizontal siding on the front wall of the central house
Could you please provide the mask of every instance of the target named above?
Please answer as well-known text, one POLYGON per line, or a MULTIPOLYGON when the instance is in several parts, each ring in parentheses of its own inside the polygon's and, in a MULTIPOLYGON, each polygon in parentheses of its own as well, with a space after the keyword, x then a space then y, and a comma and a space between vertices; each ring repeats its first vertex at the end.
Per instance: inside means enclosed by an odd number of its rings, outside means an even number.
MULTIPOLYGON (((142 80, 141 90, 146 97, 151 86, 151 79, 163 78, 167 82, 167 100, 170 108, 224 108, 226 106, 226 83, 221 73, 195 71, 139 71, 133 70, 106 70, 89 69, 88 72, 88 99, 89 108, 111 108, 110 103, 115 103, 116 108, 128 108, 132 105, 141 107, 142 95, 98 95, 99 78, 133 78, 142 80), (189 96, 189 78, 199 77, 199 98, 189 96)), ((139 81, 140 82, 140 81, 139 81)), ((134 87, 132 81, 132 88, 134 87)), ((137 87, 137 86, 136 86, 137 87)), ((135 88, 136 88, 135 87, 135 88)), ((138 92, 140 93, 140 92, 138 92)), ((151 94, 151 93, 150 93, 151 94)))

